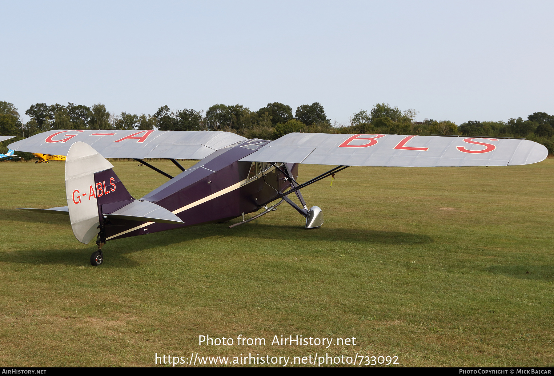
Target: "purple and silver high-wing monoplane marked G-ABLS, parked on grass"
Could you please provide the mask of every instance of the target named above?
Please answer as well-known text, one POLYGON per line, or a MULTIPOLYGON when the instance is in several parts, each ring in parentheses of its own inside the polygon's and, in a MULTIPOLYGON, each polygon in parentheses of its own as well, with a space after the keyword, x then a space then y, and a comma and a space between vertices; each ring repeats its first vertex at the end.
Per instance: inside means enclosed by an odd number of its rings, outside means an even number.
POLYGON ((305 217, 307 229, 319 228, 321 209, 308 208, 300 189, 350 166, 513 166, 540 162, 548 155, 545 146, 521 138, 289 133, 268 141, 223 131, 156 130, 48 131, 9 147, 67 156, 68 206, 20 209, 68 214, 81 243, 96 236, 92 265, 102 264, 102 246, 108 240, 242 218, 233 227, 283 202, 305 217), (105 158, 133 158, 170 180, 136 199, 105 158), (172 177, 145 158, 170 159, 182 172, 172 177), (184 169, 176 159, 200 161, 184 169), (299 183, 301 163, 337 167, 299 183), (288 197, 293 193, 301 206, 288 197), (245 219, 261 208, 263 212, 245 219))

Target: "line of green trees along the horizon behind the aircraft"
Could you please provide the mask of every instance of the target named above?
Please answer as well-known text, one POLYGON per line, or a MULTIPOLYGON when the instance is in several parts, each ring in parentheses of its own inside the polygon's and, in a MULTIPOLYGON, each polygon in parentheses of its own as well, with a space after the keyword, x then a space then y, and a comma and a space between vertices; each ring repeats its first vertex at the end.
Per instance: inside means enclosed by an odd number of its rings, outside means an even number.
POLYGON ((459 126, 448 120, 416 121, 416 110, 401 111, 384 103, 352 114, 347 124, 328 119, 319 102, 296 107, 294 115, 293 107, 281 102, 268 103, 257 111, 239 104, 216 104, 206 112, 194 109, 172 111, 164 105, 153 115, 112 114, 103 104, 68 103, 64 106, 37 103, 30 106, 25 115, 30 120, 22 123, 18 109, 10 102, 0 101, 0 135, 14 135, 21 139, 58 129, 158 129, 228 131, 264 140, 275 140, 291 132, 496 136, 524 137, 542 143, 549 153, 554 154, 554 116, 546 112, 534 112, 527 116, 527 120, 517 117, 507 121, 468 121, 459 126))

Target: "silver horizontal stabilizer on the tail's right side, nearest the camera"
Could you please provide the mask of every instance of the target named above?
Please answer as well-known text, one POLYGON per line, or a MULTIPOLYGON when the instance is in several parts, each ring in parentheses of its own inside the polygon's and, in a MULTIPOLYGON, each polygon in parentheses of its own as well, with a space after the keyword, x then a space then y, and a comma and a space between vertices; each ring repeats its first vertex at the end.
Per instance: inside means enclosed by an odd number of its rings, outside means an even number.
POLYGON ((184 223, 177 215, 160 205, 140 200, 133 201, 121 209, 117 209, 114 213, 104 213, 104 217, 137 220, 139 222, 184 223))

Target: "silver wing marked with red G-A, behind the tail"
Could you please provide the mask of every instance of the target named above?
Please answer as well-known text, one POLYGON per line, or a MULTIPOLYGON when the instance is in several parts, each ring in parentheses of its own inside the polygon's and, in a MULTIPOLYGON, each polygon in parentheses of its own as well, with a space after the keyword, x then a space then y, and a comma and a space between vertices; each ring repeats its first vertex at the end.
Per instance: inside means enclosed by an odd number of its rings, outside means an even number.
POLYGON ((38 133, 8 145, 15 151, 66 156, 77 141, 105 158, 203 159, 216 150, 247 140, 223 131, 65 130, 38 133))

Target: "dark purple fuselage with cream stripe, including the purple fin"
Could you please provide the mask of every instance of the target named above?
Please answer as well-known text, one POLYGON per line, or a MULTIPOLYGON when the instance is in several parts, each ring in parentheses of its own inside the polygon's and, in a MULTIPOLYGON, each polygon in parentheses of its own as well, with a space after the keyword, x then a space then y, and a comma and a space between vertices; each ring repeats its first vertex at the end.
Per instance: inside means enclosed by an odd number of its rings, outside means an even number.
MULTIPOLYGON (((290 187, 290 179, 269 163, 239 162, 239 159, 268 142, 270 141, 254 139, 220 149, 140 198, 170 210, 184 224, 102 219, 102 214, 115 212, 134 198, 112 169, 96 173, 95 182, 106 184, 108 193, 98 197, 100 223, 106 239, 224 222, 257 212, 290 187)), ((276 165, 280 166, 281 163, 276 165)), ((288 167, 296 178, 298 164, 289 163, 288 167)), ((285 169, 284 166, 281 168, 285 169)))

